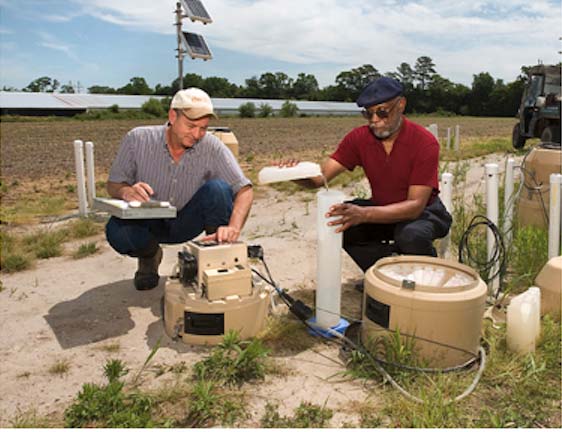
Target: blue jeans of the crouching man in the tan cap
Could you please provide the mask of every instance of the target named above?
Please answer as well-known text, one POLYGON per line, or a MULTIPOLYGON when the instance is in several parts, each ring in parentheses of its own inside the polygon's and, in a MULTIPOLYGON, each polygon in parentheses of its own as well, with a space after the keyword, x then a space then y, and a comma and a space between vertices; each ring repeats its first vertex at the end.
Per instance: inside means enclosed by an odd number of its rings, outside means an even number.
MULTIPOLYGON (((223 180, 206 182, 175 219, 119 219, 105 227, 107 241, 123 255, 143 256, 160 243, 183 243, 204 230, 228 225, 234 194, 223 180)), ((150 254, 150 253, 149 253, 150 254)))

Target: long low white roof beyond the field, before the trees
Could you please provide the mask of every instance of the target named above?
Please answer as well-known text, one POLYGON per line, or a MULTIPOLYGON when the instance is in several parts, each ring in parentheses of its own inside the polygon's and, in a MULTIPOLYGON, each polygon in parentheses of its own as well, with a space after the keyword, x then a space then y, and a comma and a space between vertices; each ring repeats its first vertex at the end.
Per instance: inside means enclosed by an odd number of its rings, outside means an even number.
MULTIPOLYGON (((150 98, 161 99, 164 96, 129 96, 81 93, 28 93, 0 92, 0 108, 2 109, 44 109, 44 110, 89 110, 104 109, 119 105, 123 109, 140 109, 150 98)), ((268 104, 273 111, 279 111, 284 99, 227 99, 212 98, 215 110, 219 113, 233 113, 242 104, 252 102, 259 108, 268 104)), ((301 113, 306 114, 357 114, 359 108, 351 102, 295 101, 301 113)))

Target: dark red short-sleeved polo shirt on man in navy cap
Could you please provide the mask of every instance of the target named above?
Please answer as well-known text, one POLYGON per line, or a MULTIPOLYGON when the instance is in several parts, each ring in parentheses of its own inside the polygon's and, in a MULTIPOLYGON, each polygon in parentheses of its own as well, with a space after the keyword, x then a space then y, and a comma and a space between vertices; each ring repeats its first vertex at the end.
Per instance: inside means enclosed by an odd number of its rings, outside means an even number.
POLYGON ((406 200, 412 185, 433 188, 429 203, 439 193, 439 143, 431 132, 405 117, 390 155, 369 127, 361 126, 343 138, 331 158, 348 170, 363 167, 375 205, 406 200))

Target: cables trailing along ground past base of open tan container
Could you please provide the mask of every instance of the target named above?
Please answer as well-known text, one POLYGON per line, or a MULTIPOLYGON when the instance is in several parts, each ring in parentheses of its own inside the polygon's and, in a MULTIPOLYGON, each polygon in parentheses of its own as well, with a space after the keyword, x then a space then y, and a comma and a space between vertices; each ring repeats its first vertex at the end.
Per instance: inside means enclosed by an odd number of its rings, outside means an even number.
MULTIPOLYGON (((275 291, 277 292, 277 294, 279 294, 279 296, 281 297, 281 299, 287 304, 287 306, 289 307, 289 310, 296 315, 296 317, 298 319, 300 319, 302 321, 302 323, 308 327, 308 329, 310 329, 313 333, 327 339, 328 341, 333 341, 333 339, 329 338, 326 336, 326 334, 322 333, 318 328, 316 328, 315 326, 312 326, 309 322, 308 319, 310 317, 312 317, 312 309, 310 309, 308 306, 304 305, 303 306, 305 308, 307 308, 310 311, 310 316, 303 316, 302 313, 298 313, 295 312, 295 307, 294 305, 297 304, 297 302, 302 303, 300 300, 295 301, 294 299, 292 299, 292 297, 290 297, 285 291, 283 291, 279 285, 277 285, 277 283, 275 283, 275 281, 273 280, 273 277, 271 276, 271 272, 269 271, 269 268, 267 266, 267 263, 265 262, 265 259, 263 257, 263 253, 261 254, 260 257, 258 257, 260 259, 260 261, 263 263, 269 279, 264 277, 259 271, 255 270, 252 268, 252 271, 261 279, 263 279, 266 283, 268 283, 269 285, 271 285, 275 291)), ((328 311, 329 312, 329 311, 328 311)), ((333 313, 333 312, 329 312, 329 313, 333 313)), ((360 320, 355 320, 356 323, 360 323, 360 320)), ((476 385, 478 384, 478 382, 480 381, 480 378, 482 376, 482 373, 484 372, 484 368, 485 368, 485 364, 486 364, 486 353, 484 351, 484 348, 479 347, 479 356, 476 357, 474 356, 473 358, 471 358, 470 360, 468 360, 467 362, 460 364, 460 365, 455 365, 452 367, 448 367, 448 368, 421 368, 421 367, 414 367, 414 366, 408 366, 408 365, 402 365, 399 363, 393 363, 393 362, 387 362, 384 361, 382 359, 379 359, 375 356, 373 356, 369 350, 365 349, 362 345, 356 344, 355 342, 353 342, 350 338, 348 338, 347 336, 331 329, 331 328, 327 328, 327 329, 323 329, 324 331, 327 331, 330 335, 334 336, 339 342, 340 345, 342 347, 345 347, 345 345, 347 344, 348 346, 352 347, 354 350, 362 353, 363 355, 366 356, 366 358, 368 358, 370 360, 370 362, 373 364, 373 366, 375 367, 375 369, 384 377, 385 380, 387 380, 388 382, 391 383, 391 385, 398 390, 402 395, 404 395, 406 398, 416 402, 416 403, 424 403, 423 400, 419 399, 418 397, 412 395, 411 393, 409 393, 408 391, 406 391, 403 387, 400 386, 400 384, 398 384, 393 378, 392 376, 382 367, 381 364, 386 364, 386 365, 391 365, 391 366, 395 366, 395 367, 399 367, 399 368, 403 368, 403 369, 408 369, 408 370, 413 370, 413 371, 418 371, 418 372, 424 372, 424 373, 445 373, 445 372, 453 372, 453 371, 458 371, 461 369, 464 369, 468 366, 471 366, 473 363, 475 363, 478 359, 480 359, 480 367, 478 369, 478 372, 476 373, 475 378, 473 379, 472 383, 467 387, 467 389, 459 396, 457 396, 454 399, 451 399, 449 401, 446 402, 446 404, 452 403, 452 402, 458 402, 461 399, 464 399, 466 396, 468 396, 470 393, 472 393, 472 391, 474 391, 474 389, 476 388, 476 385)), ((413 336, 416 337, 416 336, 413 336)), ((419 337, 417 337, 419 338, 419 337)), ((453 346, 449 346, 447 344, 442 344, 439 342, 435 342, 435 341, 431 341, 425 338, 421 338, 424 339, 425 341, 428 342, 433 342, 433 343, 437 343, 439 345, 443 345, 446 346, 448 348, 452 348, 452 349, 457 349, 460 351, 463 351, 465 353, 469 353, 466 350, 462 350, 460 348, 457 347, 453 347, 453 346)), ((469 353, 471 355, 473 355, 472 353, 469 353)))

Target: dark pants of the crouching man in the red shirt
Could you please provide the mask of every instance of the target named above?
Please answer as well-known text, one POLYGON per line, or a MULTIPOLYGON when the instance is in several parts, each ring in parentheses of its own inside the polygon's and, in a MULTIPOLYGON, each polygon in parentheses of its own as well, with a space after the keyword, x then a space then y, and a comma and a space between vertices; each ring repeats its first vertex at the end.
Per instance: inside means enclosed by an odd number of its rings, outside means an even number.
MULTIPOLYGON (((349 202, 362 207, 373 205, 370 200, 349 202)), ((348 228, 343 233, 343 248, 364 272, 392 254, 437 256, 433 240, 445 237, 451 222, 451 215, 436 197, 415 220, 348 228)))

